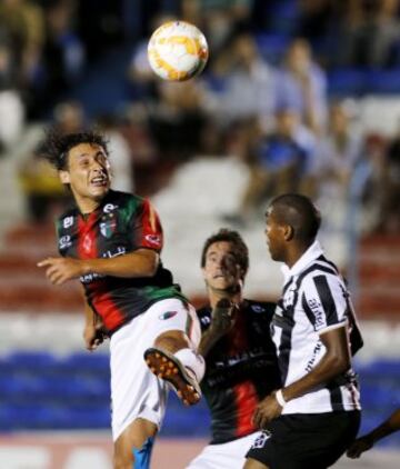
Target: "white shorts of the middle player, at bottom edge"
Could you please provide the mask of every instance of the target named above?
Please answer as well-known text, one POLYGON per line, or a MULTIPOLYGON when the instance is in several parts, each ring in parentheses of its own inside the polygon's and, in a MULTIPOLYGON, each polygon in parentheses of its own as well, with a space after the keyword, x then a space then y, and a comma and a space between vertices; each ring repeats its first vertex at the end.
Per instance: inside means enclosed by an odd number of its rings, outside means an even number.
POLYGON ((261 431, 220 445, 208 445, 186 469, 242 469, 246 455, 261 431))

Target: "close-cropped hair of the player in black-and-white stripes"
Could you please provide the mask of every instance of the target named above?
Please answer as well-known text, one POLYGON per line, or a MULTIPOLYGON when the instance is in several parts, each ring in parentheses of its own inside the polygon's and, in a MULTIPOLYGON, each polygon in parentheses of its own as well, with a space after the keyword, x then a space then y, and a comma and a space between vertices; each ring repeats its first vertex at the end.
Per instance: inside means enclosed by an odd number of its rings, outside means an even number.
POLYGON ((270 207, 273 207, 279 221, 293 228, 293 239, 301 242, 316 239, 321 226, 321 213, 311 199, 301 193, 284 193, 276 197, 270 207))

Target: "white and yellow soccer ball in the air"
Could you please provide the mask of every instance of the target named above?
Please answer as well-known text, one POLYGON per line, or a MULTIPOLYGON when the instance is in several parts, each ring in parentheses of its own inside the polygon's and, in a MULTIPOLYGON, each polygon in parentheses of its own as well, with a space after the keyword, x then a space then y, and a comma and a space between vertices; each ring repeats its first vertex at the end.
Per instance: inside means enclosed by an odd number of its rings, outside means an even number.
POLYGON ((186 21, 160 26, 148 44, 150 67, 163 80, 189 80, 202 71, 208 56, 204 34, 186 21))

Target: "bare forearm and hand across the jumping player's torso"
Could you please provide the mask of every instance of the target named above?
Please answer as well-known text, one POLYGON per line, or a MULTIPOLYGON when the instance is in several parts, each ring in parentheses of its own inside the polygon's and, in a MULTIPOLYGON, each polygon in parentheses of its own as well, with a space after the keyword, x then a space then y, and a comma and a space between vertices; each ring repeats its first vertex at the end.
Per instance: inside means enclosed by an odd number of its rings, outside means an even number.
POLYGON ((138 249, 123 256, 103 259, 47 258, 38 262, 53 285, 88 273, 112 277, 152 277, 159 265, 159 255, 151 249, 138 249))

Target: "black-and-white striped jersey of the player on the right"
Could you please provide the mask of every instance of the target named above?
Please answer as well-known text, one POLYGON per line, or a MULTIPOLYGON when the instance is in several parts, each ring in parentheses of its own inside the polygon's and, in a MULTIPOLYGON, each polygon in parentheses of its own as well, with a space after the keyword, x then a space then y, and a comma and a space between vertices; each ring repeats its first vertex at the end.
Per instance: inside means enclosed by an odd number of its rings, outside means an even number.
MULTIPOLYGON (((320 335, 357 322, 349 292, 336 266, 326 259, 318 241, 289 269, 272 321, 282 383, 289 386, 309 373, 326 347, 320 335)), ((321 413, 360 409, 354 373, 350 369, 333 381, 289 401, 282 413, 321 413)))

